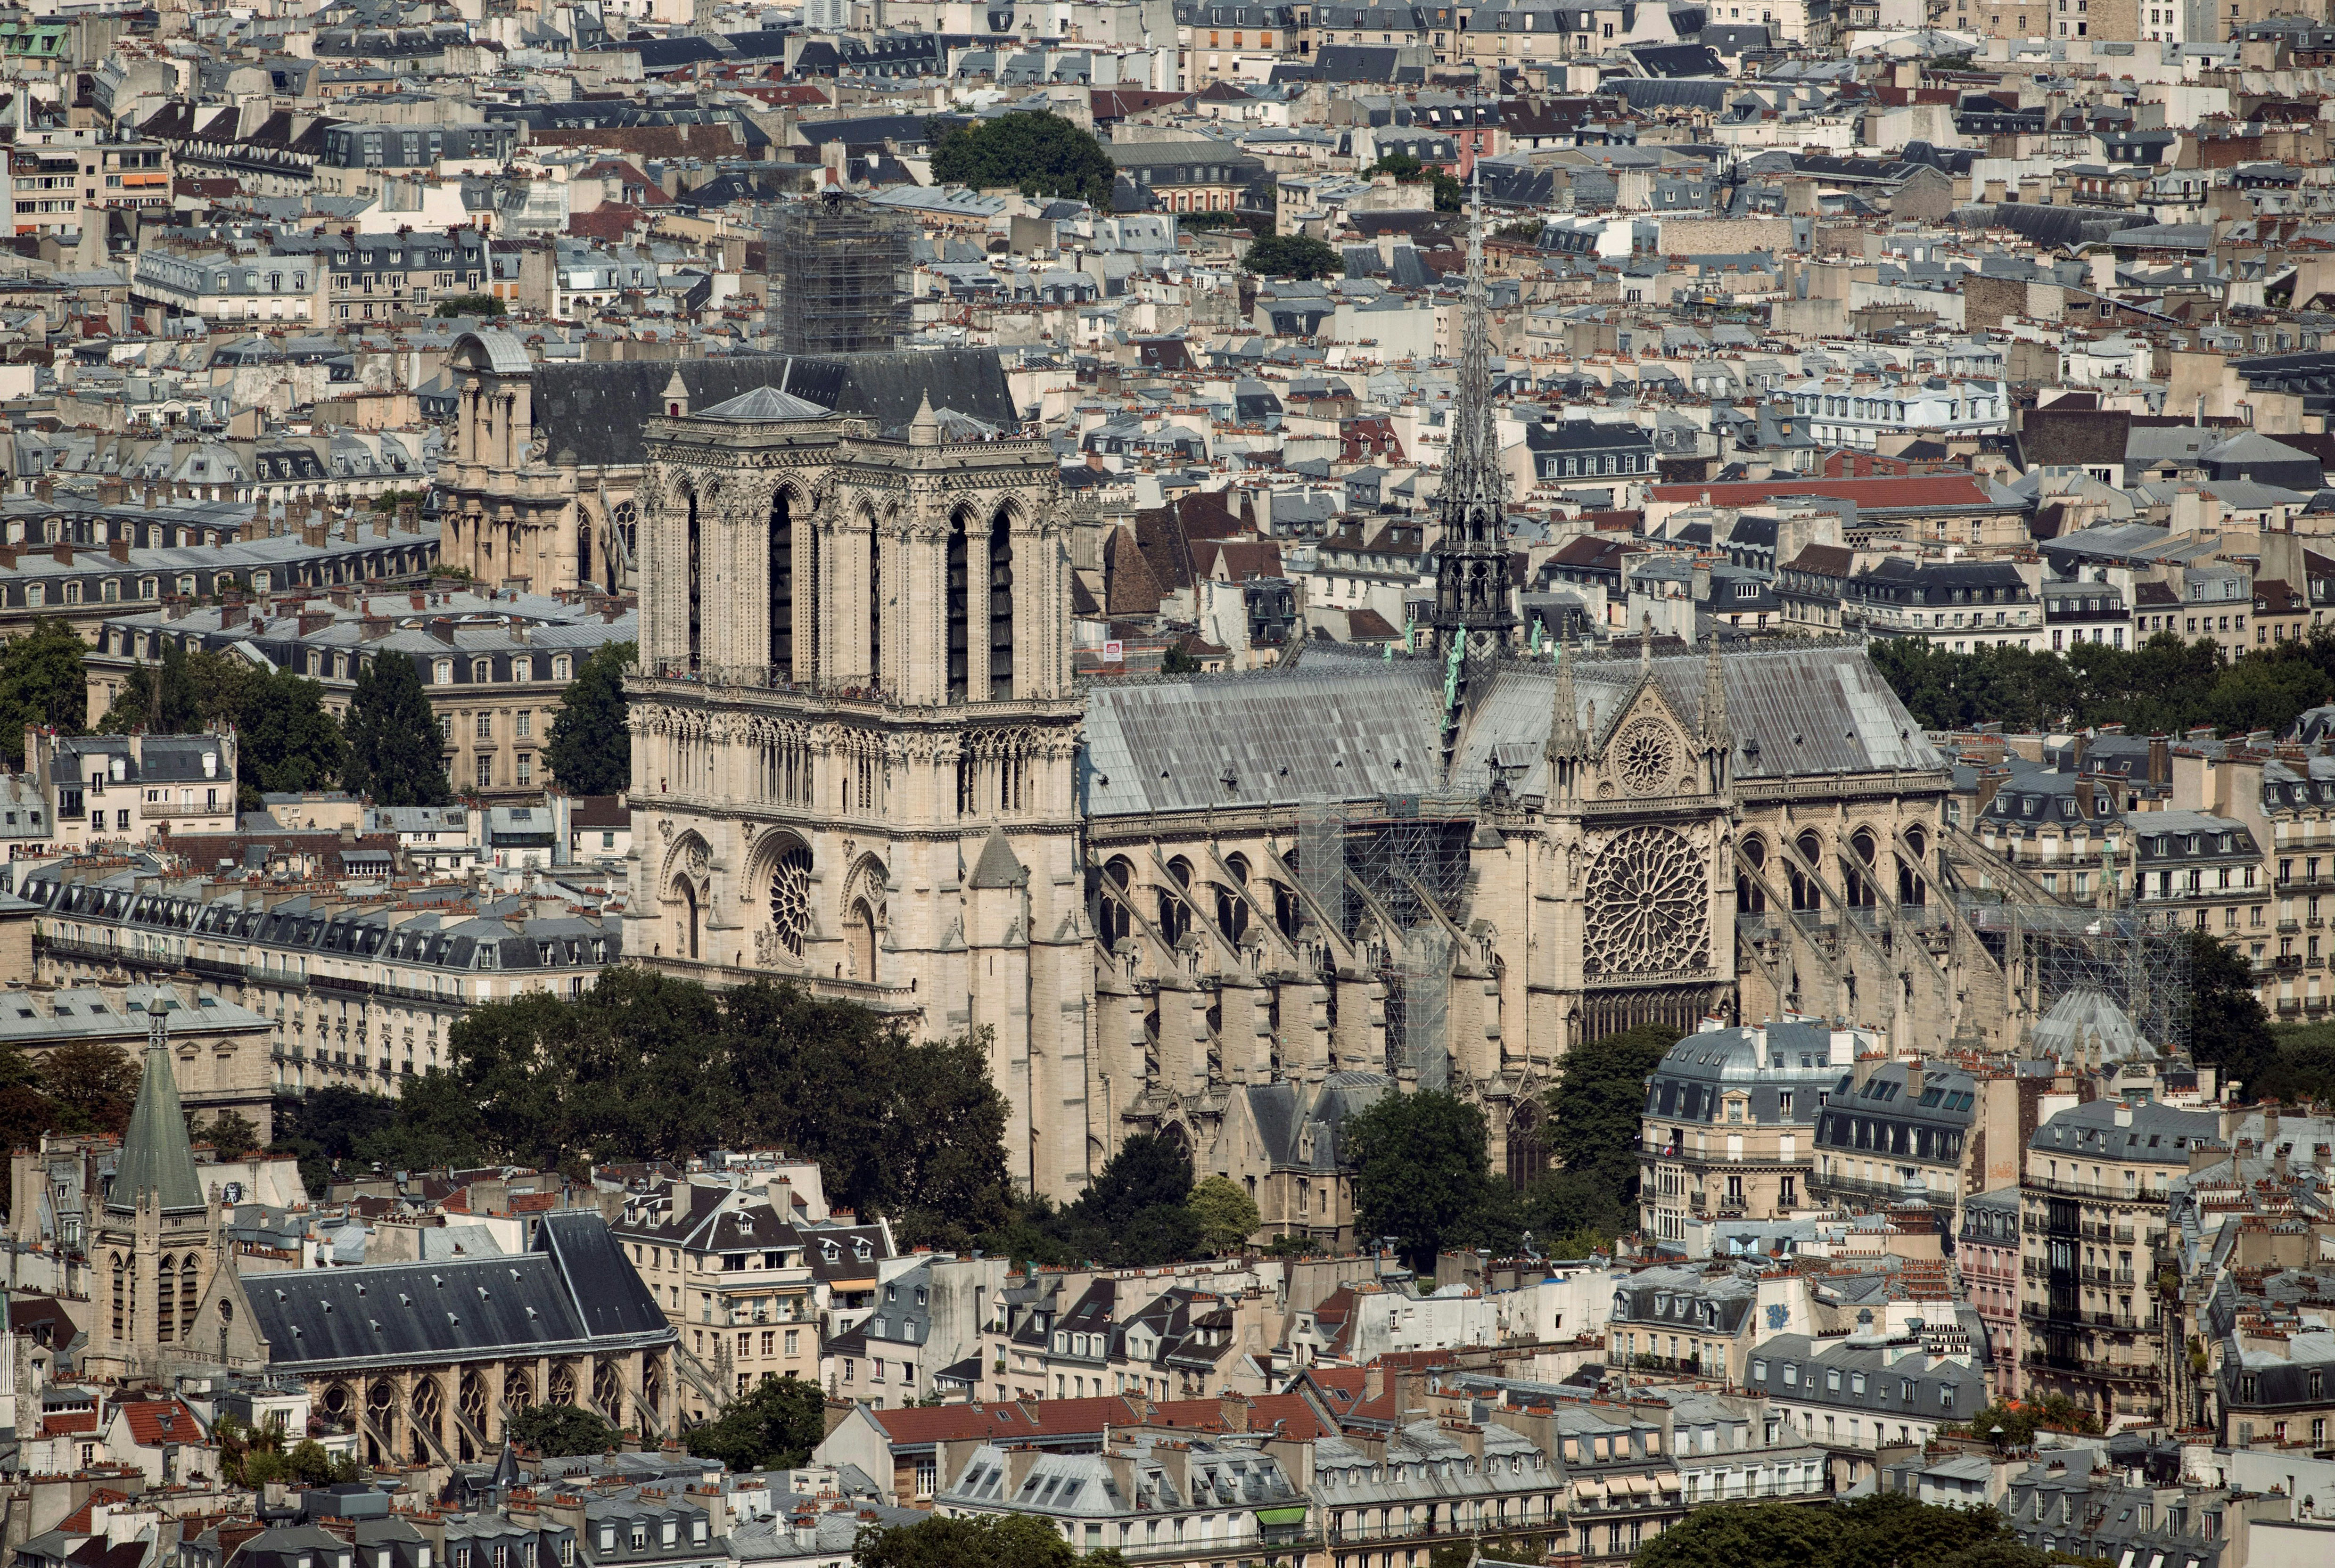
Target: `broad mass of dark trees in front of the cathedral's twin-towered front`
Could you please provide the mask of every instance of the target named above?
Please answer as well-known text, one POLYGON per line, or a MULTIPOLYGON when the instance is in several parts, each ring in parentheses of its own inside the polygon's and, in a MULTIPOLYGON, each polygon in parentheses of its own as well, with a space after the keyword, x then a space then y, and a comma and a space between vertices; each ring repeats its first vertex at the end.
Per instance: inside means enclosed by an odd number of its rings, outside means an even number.
POLYGON ((336 1160, 584 1174, 782 1146, 817 1160, 834 1204, 887 1213, 904 1239, 969 1246, 1016 1213, 985 1036, 913 1043, 796 985, 710 992, 607 968, 581 996, 472 1008, 448 1050, 402 1099, 308 1097, 280 1148, 320 1181, 336 1160))

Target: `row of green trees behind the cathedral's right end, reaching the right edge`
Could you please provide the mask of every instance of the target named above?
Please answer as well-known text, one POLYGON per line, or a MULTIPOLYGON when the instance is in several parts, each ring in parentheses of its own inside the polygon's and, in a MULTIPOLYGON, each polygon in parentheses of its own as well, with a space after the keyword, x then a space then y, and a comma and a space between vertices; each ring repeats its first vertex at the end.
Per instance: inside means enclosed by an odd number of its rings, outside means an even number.
POLYGON ((2223 660, 2211 642, 2158 632, 2137 649, 2078 642, 2066 653, 1992 646, 1950 653, 1922 637, 1870 644, 1898 700, 1931 730, 2001 721, 2006 730, 2123 723, 2137 735, 2193 726, 2284 735, 2295 714, 2335 700, 2335 632, 2223 660))

